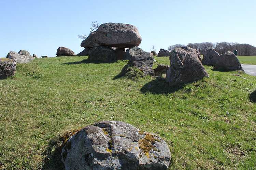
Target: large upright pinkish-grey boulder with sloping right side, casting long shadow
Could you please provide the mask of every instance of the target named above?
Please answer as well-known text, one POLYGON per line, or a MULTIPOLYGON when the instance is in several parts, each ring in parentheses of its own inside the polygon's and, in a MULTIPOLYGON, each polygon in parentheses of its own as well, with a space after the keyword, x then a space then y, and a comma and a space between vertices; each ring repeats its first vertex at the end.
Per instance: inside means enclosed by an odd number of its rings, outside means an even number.
POLYGON ((194 82, 209 77, 196 50, 176 48, 170 52, 170 68, 166 73, 166 81, 170 86, 194 82))

